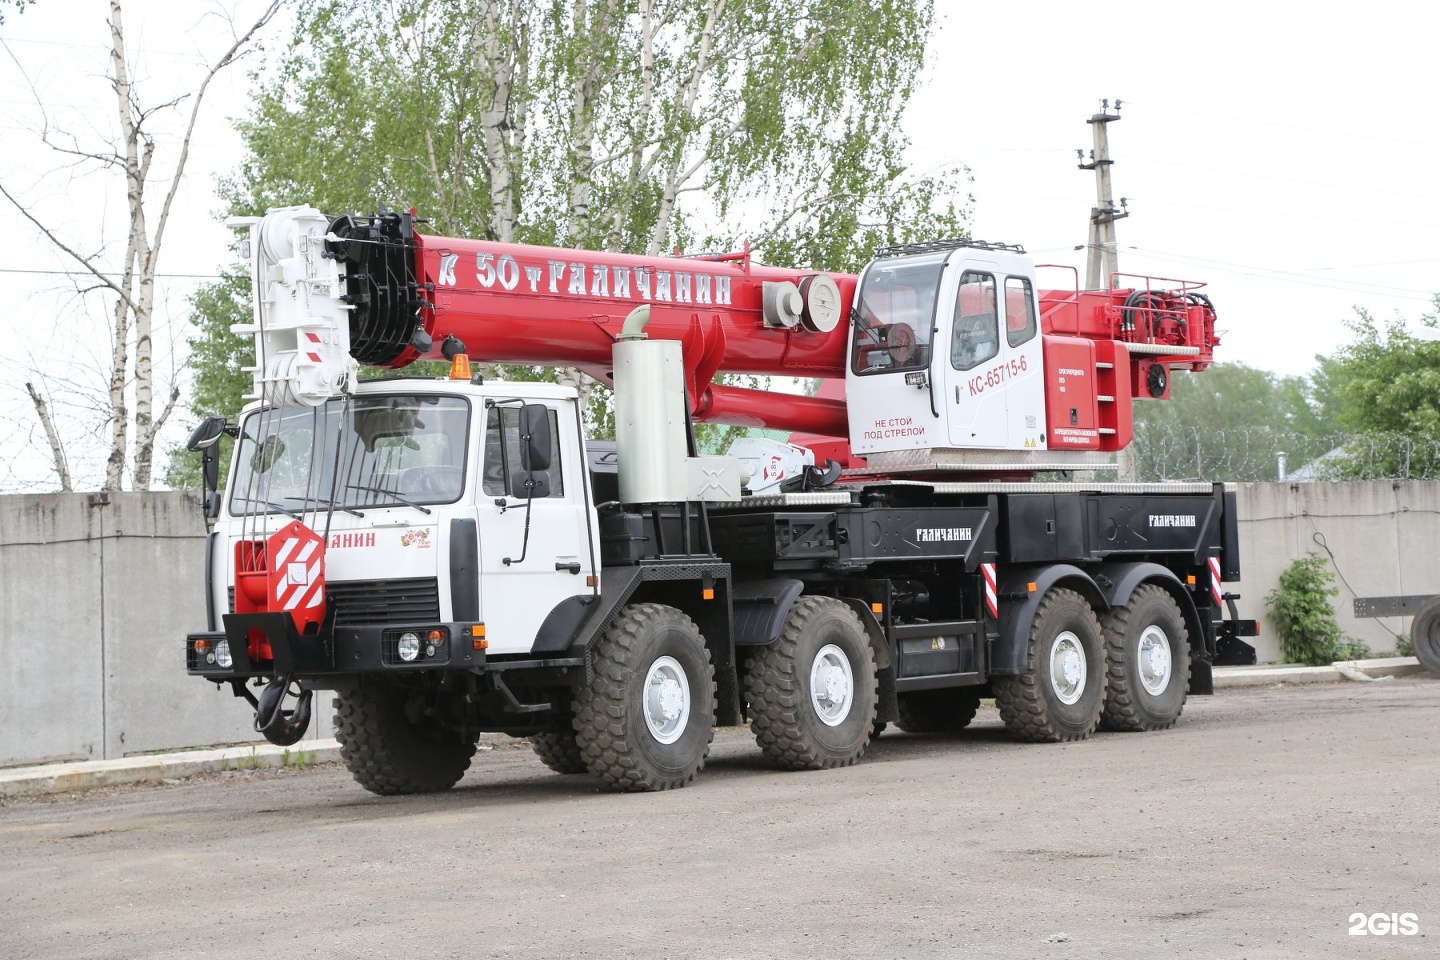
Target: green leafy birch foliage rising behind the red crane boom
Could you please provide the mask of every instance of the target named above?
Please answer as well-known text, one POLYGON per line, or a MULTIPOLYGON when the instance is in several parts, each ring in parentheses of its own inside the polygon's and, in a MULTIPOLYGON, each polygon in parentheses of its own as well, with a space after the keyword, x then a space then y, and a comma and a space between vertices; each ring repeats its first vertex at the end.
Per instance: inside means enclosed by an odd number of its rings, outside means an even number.
MULTIPOLYGON (((750 237, 770 263, 855 271, 966 232, 968 174, 901 163, 932 24, 932 0, 307 0, 256 73, 222 197, 252 216, 413 206, 445 236, 608 250, 750 237)), ((197 415, 238 406, 226 337, 248 315, 202 296, 197 415)), ((606 390, 588 413, 611 435, 606 390)))

